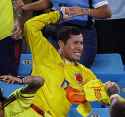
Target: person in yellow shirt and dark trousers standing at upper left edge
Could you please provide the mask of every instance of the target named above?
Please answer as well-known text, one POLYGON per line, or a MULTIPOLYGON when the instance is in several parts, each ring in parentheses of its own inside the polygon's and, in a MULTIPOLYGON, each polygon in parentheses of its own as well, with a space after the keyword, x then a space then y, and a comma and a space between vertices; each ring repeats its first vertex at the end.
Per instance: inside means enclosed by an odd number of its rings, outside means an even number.
POLYGON ((20 35, 19 23, 15 21, 11 0, 0 2, 0 74, 16 75, 15 41, 20 35))

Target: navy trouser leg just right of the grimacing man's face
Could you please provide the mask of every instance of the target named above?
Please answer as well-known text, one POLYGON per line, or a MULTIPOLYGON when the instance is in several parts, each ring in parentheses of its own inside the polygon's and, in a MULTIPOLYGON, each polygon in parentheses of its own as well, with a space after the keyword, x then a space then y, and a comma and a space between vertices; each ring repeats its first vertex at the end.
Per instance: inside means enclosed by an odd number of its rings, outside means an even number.
POLYGON ((97 52, 97 35, 94 27, 86 29, 84 39, 84 50, 80 63, 91 67, 97 52))

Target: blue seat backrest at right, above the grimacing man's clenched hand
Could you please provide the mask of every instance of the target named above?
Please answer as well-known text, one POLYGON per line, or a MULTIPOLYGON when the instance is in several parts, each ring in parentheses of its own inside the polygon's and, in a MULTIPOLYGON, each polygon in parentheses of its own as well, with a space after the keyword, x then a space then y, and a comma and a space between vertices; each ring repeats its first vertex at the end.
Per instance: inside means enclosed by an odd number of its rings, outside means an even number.
POLYGON ((100 74, 114 74, 123 72, 124 66, 120 54, 97 54, 92 70, 100 74))

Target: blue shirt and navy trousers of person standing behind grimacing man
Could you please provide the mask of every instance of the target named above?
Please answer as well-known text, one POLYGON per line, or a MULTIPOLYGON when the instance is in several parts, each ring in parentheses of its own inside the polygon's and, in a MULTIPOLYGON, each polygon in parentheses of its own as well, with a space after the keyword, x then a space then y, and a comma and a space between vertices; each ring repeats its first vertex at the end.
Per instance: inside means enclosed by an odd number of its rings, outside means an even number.
MULTIPOLYGON (((104 0, 92 0, 93 7, 104 0)), ((80 6, 82 8, 89 7, 89 0, 53 0, 54 7, 59 8, 60 6, 80 6)), ((77 25, 83 30, 86 28, 86 34, 84 39, 84 52, 81 57, 80 63, 87 67, 90 67, 94 61, 97 50, 97 36, 94 26, 88 25, 88 16, 76 16, 62 24, 77 25), (89 28, 88 28, 89 27, 89 28)))

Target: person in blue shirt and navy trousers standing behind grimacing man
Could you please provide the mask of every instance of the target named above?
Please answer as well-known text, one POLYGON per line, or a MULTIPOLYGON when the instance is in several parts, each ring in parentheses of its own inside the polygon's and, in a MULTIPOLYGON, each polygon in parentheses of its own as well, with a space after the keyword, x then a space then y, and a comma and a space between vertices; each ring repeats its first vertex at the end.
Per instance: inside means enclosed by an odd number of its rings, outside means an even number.
POLYGON ((86 34, 84 40, 84 53, 81 57, 80 63, 90 67, 94 61, 97 50, 96 30, 94 28, 93 20, 106 19, 111 17, 111 10, 108 6, 107 0, 52 0, 54 7, 70 8, 68 15, 72 12, 81 12, 80 16, 74 16, 62 22, 62 25, 76 25, 81 30, 86 27, 86 34))

